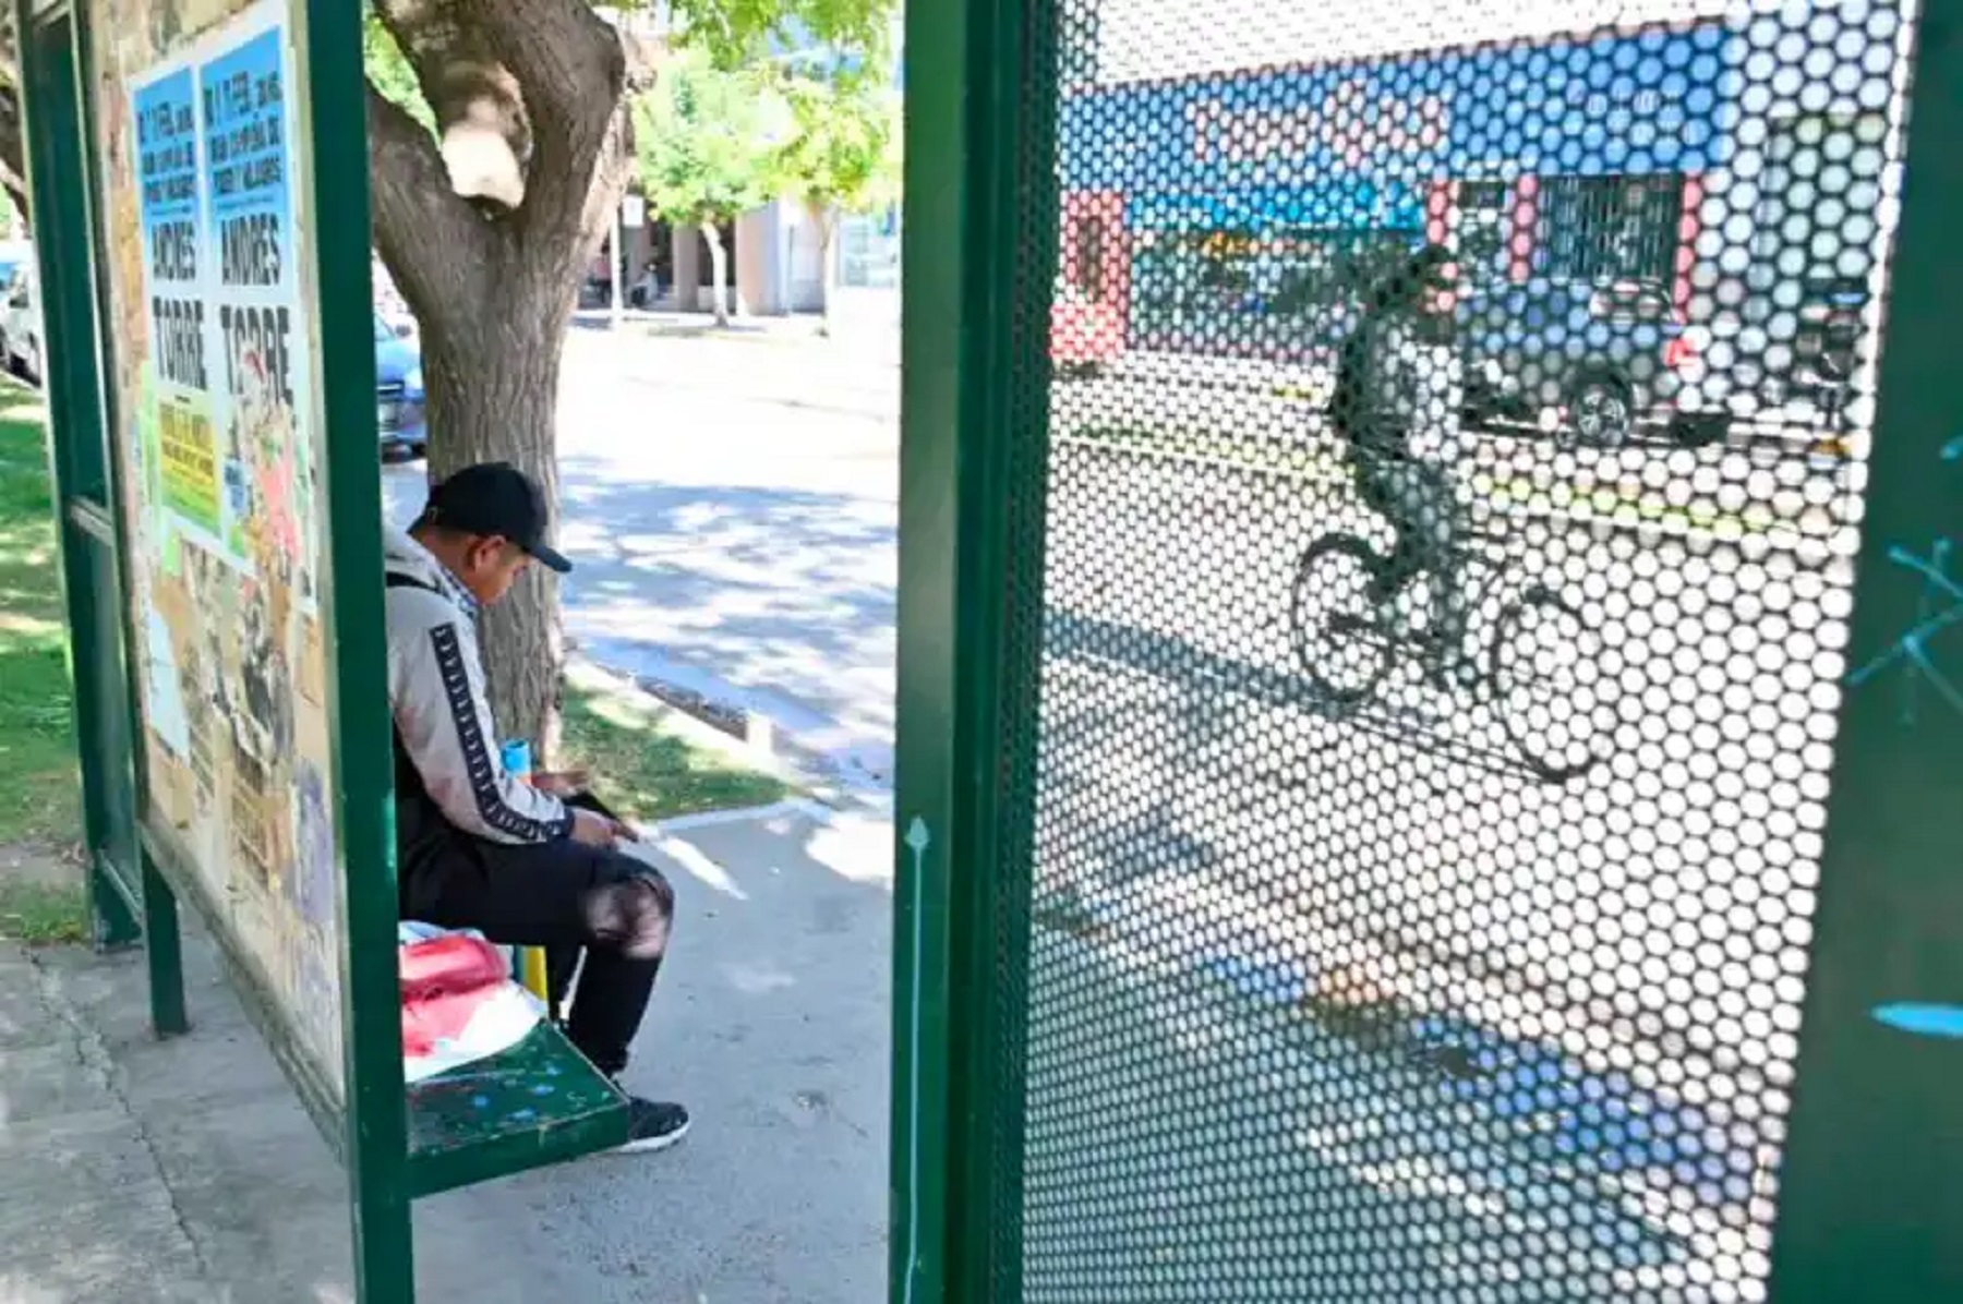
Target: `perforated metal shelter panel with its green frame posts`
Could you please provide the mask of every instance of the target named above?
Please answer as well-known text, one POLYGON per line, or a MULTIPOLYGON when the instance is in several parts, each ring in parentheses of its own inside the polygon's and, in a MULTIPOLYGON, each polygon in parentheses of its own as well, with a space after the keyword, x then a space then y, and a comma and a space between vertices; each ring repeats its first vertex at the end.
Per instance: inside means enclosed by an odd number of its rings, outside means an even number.
POLYGON ((1955 14, 911 16, 893 1298, 1955 1298, 1955 14))

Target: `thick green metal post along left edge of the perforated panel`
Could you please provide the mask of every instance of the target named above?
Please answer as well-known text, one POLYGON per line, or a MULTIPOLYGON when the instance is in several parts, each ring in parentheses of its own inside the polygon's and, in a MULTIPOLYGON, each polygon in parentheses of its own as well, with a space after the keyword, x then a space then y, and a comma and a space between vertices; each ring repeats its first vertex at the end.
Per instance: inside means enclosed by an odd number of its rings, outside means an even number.
POLYGON ((1035 719, 1011 738, 1001 711, 1031 711, 1036 681, 1054 24, 1027 0, 907 12, 891 1229, 905 1302, 1021 1292, 1035 719))

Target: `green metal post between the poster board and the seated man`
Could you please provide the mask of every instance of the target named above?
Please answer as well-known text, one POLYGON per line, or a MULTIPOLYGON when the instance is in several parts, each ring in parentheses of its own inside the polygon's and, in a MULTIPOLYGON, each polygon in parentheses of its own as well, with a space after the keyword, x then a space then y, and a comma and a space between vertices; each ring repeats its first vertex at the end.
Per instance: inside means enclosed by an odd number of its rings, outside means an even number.
MULTIPOLYGON (((353 1204, 355 1284, 363 1304, 410 1304, 408 1119, 402 1025, 397 1017, 395 789, 381 583, 381 465, 375 458, 375 346, 367 220, 367 132, 361 104, 363 6, 306 0, 298 57, 306 69, 300 185, 314 214, 326 467, 322 634, 334 650, 328 721, 334 738, 336 844, 342 858, 344 1147, 353 1204)), ((296 14, 298 18, 298 14, 296 14)))

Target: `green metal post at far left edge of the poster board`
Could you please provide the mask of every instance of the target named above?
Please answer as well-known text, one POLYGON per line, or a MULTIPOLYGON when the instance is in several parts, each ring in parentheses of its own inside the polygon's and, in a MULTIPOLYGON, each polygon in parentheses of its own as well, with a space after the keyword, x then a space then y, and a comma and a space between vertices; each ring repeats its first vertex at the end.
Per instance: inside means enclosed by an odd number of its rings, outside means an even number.
MULTIPOLYGON (((75 738, 82 770, 82 835, 88 846, 88 905, 94 941, 126 947, 141 935, 135 903, 110 860, 133 870, 133 776, 126 750, 104 746, 124 709, 110 691, 122 672, 122 650, 100 634, 116 630, 116 589, 100 591, 96 550, 112 536, 94 536, 71 513, 77 499, 108 507, 102 442, 100 375, 94 350, 94 295, 88 259, 88 179, 80 151, 80 100, 75 75, 75 18, 16 0, 22 61, 22 118, 27 183, 33 196, 37 277, 41 287, 43 385, 49 407, 49 483, 61 540, 61 583, 71 630, 75 738)), ((106 518, 106 516, 104 516, 106 518)), ((130 874, 133 880, 133 872, 130 874)))

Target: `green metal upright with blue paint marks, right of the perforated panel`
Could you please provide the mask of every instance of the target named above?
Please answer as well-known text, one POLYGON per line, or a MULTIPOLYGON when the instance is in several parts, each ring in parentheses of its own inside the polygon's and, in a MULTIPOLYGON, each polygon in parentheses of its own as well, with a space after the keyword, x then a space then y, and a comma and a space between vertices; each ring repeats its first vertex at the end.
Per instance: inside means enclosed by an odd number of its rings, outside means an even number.
MULTIPOLYGON (((1888 546, 1922 550, 1963 526, 1963 465, 1943 458, 1963 432, 1957 37, 1955 12, 1924 8, 1849 666, 1886 652, 1918 619, 1920 579, 1888 560, 1888 546)), ((1851 687, 1841 699, 1773 1237, 1780 1304, 1963 1298, 1963 1041, 1873 1017, 1890 1002, 1963 1005, 1963 729, 1934 695, 1904 721, 1894 687, 1851 687)))

